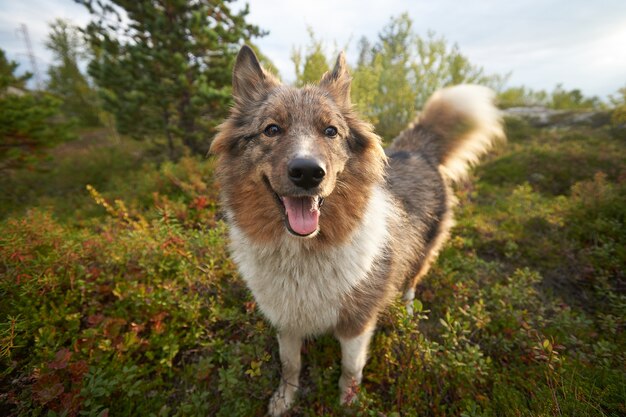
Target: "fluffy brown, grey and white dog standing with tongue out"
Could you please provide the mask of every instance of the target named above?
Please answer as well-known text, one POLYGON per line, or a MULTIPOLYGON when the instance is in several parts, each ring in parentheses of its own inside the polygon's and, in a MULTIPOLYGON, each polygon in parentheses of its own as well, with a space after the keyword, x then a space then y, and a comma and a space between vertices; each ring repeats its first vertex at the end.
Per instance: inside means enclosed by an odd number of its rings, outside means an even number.
POLYGON ((278 334, 282 380, 269 402, 295 400, 305 338, 341 344, 340 402, 361 382, 378 315, 415 287, 453 224, 451 185, 504 139, 486 87, 436 92, 384 150, 350 102, 343 53, 318 85, 281 84, 243 46, 234 104, 211 144, 230 251, 278 334))

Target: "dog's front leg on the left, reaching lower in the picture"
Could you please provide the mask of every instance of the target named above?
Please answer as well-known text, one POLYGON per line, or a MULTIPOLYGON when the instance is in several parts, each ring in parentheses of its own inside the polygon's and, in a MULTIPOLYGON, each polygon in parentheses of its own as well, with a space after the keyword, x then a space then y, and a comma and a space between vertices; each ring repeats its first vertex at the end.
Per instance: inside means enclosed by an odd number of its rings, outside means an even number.
POLYGON ((279 333, 278 347, 282 363, 282 379, 270 400, 269 414, 271 416, 282 415, 291 407, 295 399, 300 378, 302 338, 290 333, 279 333))

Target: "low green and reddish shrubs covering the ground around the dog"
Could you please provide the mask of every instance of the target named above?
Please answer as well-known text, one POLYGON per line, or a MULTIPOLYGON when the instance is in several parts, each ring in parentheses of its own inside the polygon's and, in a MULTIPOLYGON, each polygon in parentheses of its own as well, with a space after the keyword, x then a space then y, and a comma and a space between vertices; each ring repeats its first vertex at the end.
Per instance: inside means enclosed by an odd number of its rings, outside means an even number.
MULTIPOLYGON (((458 188, 415 317, 380 318, 351 414, 626 414, 626 140, 508 133, 458 188)), ((277 343, 227 256, 211 173, 100 138, 7 179, 0 414, 264 415, 277 343)), ((346 414, 339 357, 330 336, 305 344, 291 415, 346 414)))

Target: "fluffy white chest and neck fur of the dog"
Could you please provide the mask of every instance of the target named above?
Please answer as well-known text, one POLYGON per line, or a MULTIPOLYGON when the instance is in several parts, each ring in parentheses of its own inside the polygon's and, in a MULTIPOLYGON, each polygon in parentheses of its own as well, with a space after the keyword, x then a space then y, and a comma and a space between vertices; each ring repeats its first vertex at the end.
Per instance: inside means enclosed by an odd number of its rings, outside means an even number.
POLYGON ((351 240, 317 252, 289 235, 277 246, 252 243, 231 222, 233 259, 261 311, 279 330, 303 336, 326 332, 337 324, 342 303, 349 302, 346 294, 367 277, 383 251, 391 212, 389 196, 375 188, 351 240))

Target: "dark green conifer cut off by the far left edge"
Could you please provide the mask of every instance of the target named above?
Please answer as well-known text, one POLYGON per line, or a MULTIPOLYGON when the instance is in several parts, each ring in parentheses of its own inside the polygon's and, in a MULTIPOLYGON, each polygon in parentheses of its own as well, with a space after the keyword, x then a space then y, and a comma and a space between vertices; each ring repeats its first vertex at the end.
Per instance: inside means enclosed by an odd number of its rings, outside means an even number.
POLYGON ((73 137, 59 121, 60 101, 26 91, 31 74, 16 76, 17 67, 0 49, 0 171, 33 166, 46 148, 73 137))

